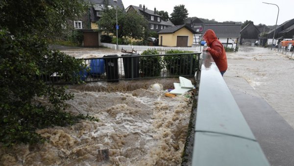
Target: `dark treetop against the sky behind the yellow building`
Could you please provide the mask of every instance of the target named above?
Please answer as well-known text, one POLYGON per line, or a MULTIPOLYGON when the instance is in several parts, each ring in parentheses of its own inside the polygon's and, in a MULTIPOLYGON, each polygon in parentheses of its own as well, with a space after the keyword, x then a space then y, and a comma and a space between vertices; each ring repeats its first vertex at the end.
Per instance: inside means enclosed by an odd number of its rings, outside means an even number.
POLYGON ((173 12, 171 14, 171 21, 174 25, 185 24, 185 20, 188 18, 188 10, 185 5, 181 4, 173 7, 173 12))

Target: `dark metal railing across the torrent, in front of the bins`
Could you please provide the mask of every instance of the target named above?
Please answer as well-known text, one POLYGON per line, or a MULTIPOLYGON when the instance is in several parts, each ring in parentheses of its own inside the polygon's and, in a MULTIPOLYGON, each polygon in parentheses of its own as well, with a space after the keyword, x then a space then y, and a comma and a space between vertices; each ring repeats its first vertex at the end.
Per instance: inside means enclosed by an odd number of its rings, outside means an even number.
MULTIPOLYGON (((193 77, 200 70, 199 55, 200 53, 105 55, 101 58, 84 59, 87 68, 75 74, 85 82, 193 77)), ((67 82, 63 76, 63 72, 59 71, 45 73, 38 79, 43 79, 47 83, 62 84, 67 82)))

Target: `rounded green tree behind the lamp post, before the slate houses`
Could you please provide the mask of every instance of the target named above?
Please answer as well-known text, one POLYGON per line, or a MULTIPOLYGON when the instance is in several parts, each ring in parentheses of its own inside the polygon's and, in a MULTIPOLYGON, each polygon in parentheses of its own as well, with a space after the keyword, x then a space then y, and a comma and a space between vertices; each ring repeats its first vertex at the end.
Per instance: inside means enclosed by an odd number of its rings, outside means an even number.
MULTIPOLYGON (((98 26, 107 34, 116 34, 116 9, 109 8, 99 19, 98 26)), ((138 15, 135 11, 125 13, 118 9, 118 37, 131 37, 134 39, 144 39, 148 37, 149 28, 147 20, 138 15)))

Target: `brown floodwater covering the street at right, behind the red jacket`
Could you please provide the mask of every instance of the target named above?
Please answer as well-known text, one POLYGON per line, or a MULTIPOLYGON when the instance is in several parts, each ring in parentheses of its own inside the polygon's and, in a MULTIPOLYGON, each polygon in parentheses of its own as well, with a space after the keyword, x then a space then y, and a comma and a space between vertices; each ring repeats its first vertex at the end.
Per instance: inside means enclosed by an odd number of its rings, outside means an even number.
POLYGON ((238 52, 227 53, 228 72, 224 79, 244 78, 294 128, 294 57, 290 58, 291 53, 286 56, 276 49, 240 47, 238 52))

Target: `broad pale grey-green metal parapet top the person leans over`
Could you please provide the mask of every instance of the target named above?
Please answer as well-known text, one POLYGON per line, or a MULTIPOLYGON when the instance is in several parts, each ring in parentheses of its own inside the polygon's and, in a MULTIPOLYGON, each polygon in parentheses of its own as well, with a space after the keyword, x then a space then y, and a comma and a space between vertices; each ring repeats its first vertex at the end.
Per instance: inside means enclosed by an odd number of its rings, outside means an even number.
POLYGON ((192 166, 270 166, 224 82, 203 52, 192 166))

